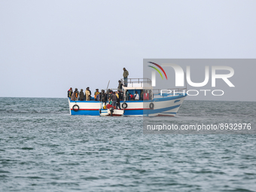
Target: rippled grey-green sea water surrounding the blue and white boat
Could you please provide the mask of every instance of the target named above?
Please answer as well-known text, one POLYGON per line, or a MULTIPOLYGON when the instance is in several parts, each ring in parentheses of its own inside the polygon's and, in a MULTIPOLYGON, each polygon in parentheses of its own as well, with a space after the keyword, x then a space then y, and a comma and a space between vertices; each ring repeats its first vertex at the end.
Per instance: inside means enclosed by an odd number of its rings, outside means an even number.
MULTIPOLYGON (((254 134, 147 135, 142 117, 0 98, 0 191, 256 191, 254 134)), ((184 101, 169 122, 251 123, 256 102, 184 101)))

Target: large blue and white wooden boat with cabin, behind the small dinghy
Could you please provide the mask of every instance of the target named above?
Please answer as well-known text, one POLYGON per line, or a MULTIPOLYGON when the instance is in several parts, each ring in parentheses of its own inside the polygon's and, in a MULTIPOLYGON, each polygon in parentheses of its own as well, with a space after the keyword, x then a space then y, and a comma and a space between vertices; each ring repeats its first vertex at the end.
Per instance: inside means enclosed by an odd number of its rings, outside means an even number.
MULTIPOLYGON (((122 83, 123 79, 121 80, 122 83)), ((104 103, 95 101, 71 101, 69 111, 71 115, 94 116, 169 116, 175 117, 182 102, 187 96, 186 88, 154 90, 148 78, 128 78, 126 87, 123 87, 123 100, 120 100, 120 109, 104 109, 104 103), (139 100, 130 99, 130 95, 139 94, 139 100)), ((106 91, 107 92, 107 91, 106 91)), ((107 92, 108 93, 108 92, 107 92)))

